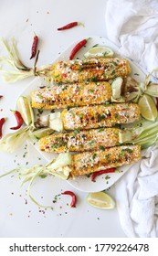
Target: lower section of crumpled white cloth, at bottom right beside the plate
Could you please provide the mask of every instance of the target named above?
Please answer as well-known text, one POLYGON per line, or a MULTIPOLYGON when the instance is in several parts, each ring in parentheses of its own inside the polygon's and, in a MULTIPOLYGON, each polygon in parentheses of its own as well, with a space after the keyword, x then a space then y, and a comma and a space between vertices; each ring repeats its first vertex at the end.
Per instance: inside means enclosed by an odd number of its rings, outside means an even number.
POLYGON ((121 227, 127 237, 158 236, 158 146, 142 153, 142 160, 115 184, 121 227))

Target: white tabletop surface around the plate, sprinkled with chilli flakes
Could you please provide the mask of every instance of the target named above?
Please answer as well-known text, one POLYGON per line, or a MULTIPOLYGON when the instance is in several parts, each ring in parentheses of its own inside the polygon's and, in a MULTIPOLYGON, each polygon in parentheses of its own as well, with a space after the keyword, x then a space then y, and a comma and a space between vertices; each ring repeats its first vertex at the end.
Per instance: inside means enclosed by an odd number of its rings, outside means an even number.
MULTIPOLYGON (((0 37, 15 37, 21 58, 26 65, 29 60, 34 32, 40 37, 41 50, 38 65, 50 63, 65 48, 80 38, 106 37, 104 22, 105 0, 1 0, 0 1, 0 37), (58 32, 57 27, 71 21, 80 21, 85 27, 75 27, 58 32)), ((2 46, 0 46, 0 55, 2 46)), ((16 99, 32 79, 5 84, 0 80, 0 118, 6 116, 4 133, 16 123, 10 109, 15 108, 16 99)), ((25 146, 15 154, 0 153, 0 174, 17 166, 44 164, 45 160, 31 146, 25 146), (41 159, 39 159, 39 157, 41 159)), ((87 193, 70 187, 67 182, 55 177, 37 180, 32 194, 42 204, 50 204, 52 198, 61 190, 73 190, 78 199, 77 208, 69 208, 69 197, 58 197, 54 209, 37 208, 26 196, 26 185, 16 177, 6 176, 0 180, 0 237, 125 237, 121 230, 117 208, 101 210, 91 208, 87 202, 87 193)), ((109 193, 115 197, 114 188, 109 193)))

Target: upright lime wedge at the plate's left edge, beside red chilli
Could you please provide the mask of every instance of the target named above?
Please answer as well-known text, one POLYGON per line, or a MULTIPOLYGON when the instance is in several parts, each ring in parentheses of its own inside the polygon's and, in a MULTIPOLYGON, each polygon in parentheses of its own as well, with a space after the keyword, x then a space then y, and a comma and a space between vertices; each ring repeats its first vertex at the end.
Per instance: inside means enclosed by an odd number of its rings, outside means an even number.
POLYGON ((34 112, 31 108, 30 101, 26 97, 20 96, 18 98, 17 107, 26 125, 34 123, 34 112))

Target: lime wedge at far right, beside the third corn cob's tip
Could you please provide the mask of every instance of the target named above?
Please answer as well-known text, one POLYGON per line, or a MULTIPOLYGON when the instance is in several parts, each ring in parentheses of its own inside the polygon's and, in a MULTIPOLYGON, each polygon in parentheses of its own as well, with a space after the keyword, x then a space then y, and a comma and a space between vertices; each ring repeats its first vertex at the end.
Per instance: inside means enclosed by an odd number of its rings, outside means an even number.
POLYGON ((138 101, 138 105, 140 107, 142 117, 154 122, 157 117, 157 109, 153 98, 147 94, 143 94, 138 101))

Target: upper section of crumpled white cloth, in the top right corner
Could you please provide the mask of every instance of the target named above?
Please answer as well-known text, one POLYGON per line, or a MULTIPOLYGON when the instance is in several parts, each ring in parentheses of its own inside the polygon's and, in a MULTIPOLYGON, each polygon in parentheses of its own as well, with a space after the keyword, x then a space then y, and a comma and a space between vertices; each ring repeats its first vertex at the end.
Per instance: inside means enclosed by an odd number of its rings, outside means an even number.
POLYGON ((148 72, 158 67, 158 1, 109 0, 107 37, 148 72))

